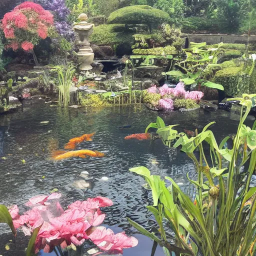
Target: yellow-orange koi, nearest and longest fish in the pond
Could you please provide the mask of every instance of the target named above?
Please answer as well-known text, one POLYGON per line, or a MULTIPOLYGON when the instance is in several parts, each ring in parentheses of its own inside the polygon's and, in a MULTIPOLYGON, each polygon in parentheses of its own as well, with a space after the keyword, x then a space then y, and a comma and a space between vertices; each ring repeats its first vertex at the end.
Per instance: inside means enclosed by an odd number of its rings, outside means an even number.
POLYGON ((62 160, 71 157, 81 157, 86 158, 87 156, 91 157, 103 157, 104 153, 98 151, 92 151, 87 149, 80 149, 74 151, 57 151, 55 154, 52 155, 54 160, 62 160))

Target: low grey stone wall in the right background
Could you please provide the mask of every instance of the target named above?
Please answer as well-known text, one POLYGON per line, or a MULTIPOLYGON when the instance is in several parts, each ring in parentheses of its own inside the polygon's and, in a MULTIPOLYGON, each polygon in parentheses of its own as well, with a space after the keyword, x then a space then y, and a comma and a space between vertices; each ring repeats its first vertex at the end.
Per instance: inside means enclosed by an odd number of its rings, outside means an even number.
MULTIPOLYGON (((236 34, 182 34, 186 39, 186 47, 189 42, 206 42, 207 44, 223 43, 245 43, 247 44, 248 35, 236 34)), ((256 42, 256 35, 249 36, 249 43, 256 42)))

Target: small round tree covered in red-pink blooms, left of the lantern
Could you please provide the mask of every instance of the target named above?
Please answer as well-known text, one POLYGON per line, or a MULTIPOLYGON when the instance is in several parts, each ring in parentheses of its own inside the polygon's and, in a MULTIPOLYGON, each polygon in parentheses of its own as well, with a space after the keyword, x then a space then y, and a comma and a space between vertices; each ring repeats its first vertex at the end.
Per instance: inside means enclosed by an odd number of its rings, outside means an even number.
POLYGON ((33 54, 35 64, 38 61, 33 52, 34 45, 48 36, 53 24, 53 15, 39 4, 25 1, 7 12, 1 20, 7 43, 5 48, 22 48, 33 54))

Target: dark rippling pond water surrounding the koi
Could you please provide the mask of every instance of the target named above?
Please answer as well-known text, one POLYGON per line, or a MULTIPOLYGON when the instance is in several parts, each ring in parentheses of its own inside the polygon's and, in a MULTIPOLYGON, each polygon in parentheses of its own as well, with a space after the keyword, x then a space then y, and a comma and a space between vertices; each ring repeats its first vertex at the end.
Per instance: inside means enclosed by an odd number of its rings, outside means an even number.
MULTIPOLYGON (((54 188, 63 193, 63 205, 102 195, 114 203, 104 209, 104 224, 114 231, 124 229, 134 233, 125 218, 130 217, 150 230, 154 220, 145 208, 151 202, 150 192, 141 186, 144 180, 128 169, 146 166, 152 174, 171 176, 183 188, 187 187, 186 172, 194 170, 184 153, 165 147, 160 140, 124 139, 126 135, 144 132, 157 114, 166 124, 180 124, 179 131, 200 130, 208 122, 216 121, 211 129, 217 142, 235 133, 239 119, 238 114, 223 110, 157 113, 143 105, 68 110, 44 103, 25 105, 22 112, 0 116, 0 157, 6 157, 0 158, 0 203, 21 205, 31 196, 48 194, 54 188), (41 121, 49 122, 41 124, 41 121), (131 128, 120 129, 123 125, 131 125, 131 128), (95 132, 93 140, 79 144, 77 149, 98 150, 106 157, 50 159, 53 148, 61 150, 70 138, 91 132, 95 132), (82 179, 81 171, 88 171, 91 177, 86 191, 72 185, 75 180, 82 179), (102 176, 108 180, 101 181, 102 176)), ((246 124, 252 125, 253 118, 246 120, 246 124)), ((7 231, 8 228, 1 224, 0 233, 7 231)), ((125 249, 123 255, 150 255, 152 242, 142 235, 135 236, 138 246, 125 249)), ((6 254, 7 251, 2 251, 4 244, 0 239, 0 254, 21 255, 13 251, 6 254)), ((155 255, 162 255, 160 248, 155 255)))

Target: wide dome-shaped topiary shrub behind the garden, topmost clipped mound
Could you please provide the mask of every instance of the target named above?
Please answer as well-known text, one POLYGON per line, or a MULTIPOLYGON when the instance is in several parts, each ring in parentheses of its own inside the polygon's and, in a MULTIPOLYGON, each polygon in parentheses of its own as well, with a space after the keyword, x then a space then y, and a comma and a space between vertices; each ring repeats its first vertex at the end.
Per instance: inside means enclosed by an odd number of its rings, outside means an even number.
POLYGON ((113 11, 108 19, 108 24, 147 24, 152 32, 152 28, 163 22, 169 22, 170 16, 165 11, 155 9, 149 5, 133 5, 113 11))

